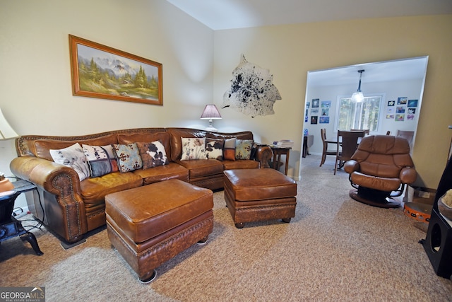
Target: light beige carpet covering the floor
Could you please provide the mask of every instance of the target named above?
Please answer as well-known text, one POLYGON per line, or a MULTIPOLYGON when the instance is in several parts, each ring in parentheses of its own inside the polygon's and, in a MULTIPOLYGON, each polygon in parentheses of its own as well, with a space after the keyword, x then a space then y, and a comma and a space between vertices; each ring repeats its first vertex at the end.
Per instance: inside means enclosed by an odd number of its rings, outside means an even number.
POLYGON ((426 233, 402 209, 350 199, 333 159, 302 161, 290 223, 237 229, 223 192, 214 194, 213 233, 140 284, 112 249, 105 228, 63 250, 35 230, 44 255, 19 238, 0 245, 0 286, 45 286, 47 301, 451 301, 452 281, 436 276, 418 241, 426 233))

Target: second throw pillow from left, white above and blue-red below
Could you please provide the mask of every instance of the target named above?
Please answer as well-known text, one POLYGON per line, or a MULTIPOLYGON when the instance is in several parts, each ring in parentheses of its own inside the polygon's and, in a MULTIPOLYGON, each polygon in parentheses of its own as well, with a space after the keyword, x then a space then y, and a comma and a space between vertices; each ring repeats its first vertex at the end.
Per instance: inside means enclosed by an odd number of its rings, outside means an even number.
POLYGON ((97 178, 118 170, 118 164, 114 157, 112 146, 90 146, 82 144, 82 148, 88 160, 92 178, 97 178))

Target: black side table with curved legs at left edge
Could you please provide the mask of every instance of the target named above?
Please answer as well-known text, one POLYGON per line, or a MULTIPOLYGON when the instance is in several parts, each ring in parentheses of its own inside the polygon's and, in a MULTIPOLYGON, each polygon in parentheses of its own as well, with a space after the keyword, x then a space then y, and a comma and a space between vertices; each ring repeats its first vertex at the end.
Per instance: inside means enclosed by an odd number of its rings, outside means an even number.
POLYGON ((37 190, 35 185, 26 180, 17 180, 12 182, 14 185, 13 193, 0 197, 0 243, 4 240, 20 236, 20 239, 27 240, 35 250, 36 255, 44 253, 37 245, 36 237, 33 233, 25 230, 22 222, 13 217, 13 208, 16 198, 23 192, 37 190))

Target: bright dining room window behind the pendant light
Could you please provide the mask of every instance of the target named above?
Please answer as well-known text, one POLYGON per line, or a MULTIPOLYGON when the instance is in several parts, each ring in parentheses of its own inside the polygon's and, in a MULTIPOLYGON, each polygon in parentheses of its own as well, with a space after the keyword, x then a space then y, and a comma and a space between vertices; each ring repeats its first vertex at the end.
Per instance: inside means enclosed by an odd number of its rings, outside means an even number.
POLYGON ((361 103, 352 102, 350 97, 339 98, 337 129, 369 129, 377 131, 382 95, 364 97, 361 103))

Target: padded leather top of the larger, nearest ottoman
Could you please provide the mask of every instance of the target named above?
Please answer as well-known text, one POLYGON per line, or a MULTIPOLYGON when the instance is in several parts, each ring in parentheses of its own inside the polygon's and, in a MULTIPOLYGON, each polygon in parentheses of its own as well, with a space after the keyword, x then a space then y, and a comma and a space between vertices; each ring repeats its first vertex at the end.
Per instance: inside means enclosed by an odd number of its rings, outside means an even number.
POLYGON ((105 196, 107 220, 135 243, 158 236, 213 208, 213 192, 182 180, 164 180, 105 196))

